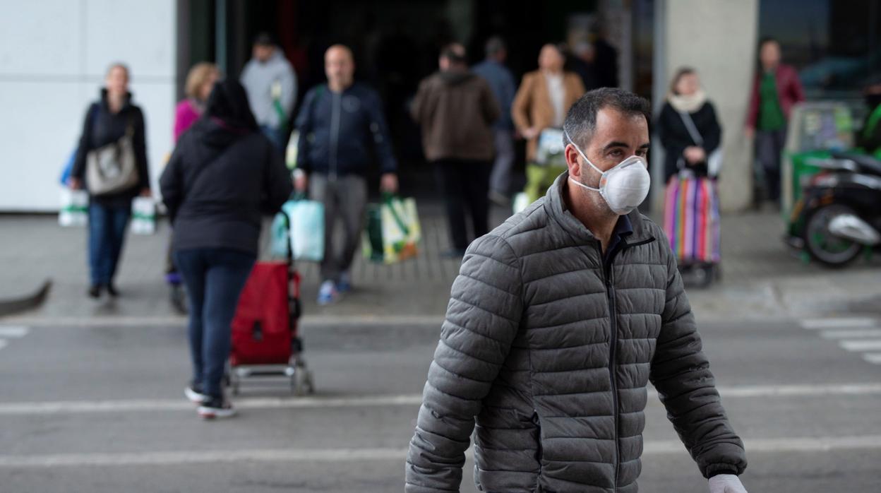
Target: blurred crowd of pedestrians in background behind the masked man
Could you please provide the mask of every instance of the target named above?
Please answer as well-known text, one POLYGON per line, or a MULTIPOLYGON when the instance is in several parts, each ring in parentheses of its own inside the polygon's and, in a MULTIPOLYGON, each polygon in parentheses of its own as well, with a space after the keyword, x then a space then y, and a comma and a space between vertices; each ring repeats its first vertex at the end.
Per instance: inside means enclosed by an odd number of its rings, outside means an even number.
MULTIPOLYGON (((485 58, 473 66, 463 45, 450 44, 441 50, 438 71, 421 82, 409 103, 446 202, 451 258, 461 258, 489 231, 491 203, 510 205, 515 142, 525 140, 523 192, 531 202, 566 172, 565 161, 548 156, 554 146, 563 146, 569 109, 592 89, 618 85, 617 53, 602 38, 571 49, 549 43, 537 55, 537 69, 518 84, 505 65, 507 46, 501 38, 486 41, 485 58)), ((225 78, 212 63, 197 63, 175 110, 176 146, 159 181, 174 226, 167 280, 172 286, 185 284, 189 294, 194 377, 188 392, 208 403, 206 412, 225 412, 218 382, 229 351, 229 323, 257 257, 263 215, 278 211, 293 192, 322 202, 325 251, 318 303, 335 303, 352 288, 374 163, 381 192, 399 191, 383 103, 379 93, 355 79, 352 49, 331 46, 324 69, 327 82, 309 88, 298 105, 291 63, 268 34, 260 34, 240 81, 225 78), (291 135, 297 136, 292 172, 283 160, 291 135), (340 238, 337 222, 343 225, 340 238)), ((118 295, 115 273, 131 201, 152 193, 144 114, 129 81, 130 70, 122 63, 107 71, 99 99, 86 110, 70 172, 70 187, 91 196, 88 295, 94 298, 105 291, 118 295), (131 162, 126 180, 110 192, 95 190, 99 178, 91 175, 90 162, 99 158, 93 156, 122 142, 122 158, 131 162)), ((779 43, 761 41, 746 132, 756 139, 772 200, 780 197, 781 152, 791 108, 799 101, 797 72, 781 63, 779 43)), ((881 101, 875 96, 870 102, 881 101)), ((722 126, 696 70, 676 72, 653 126, 665 151, 663 184, 681 186, 685 173, 708 179, 712 193, 721 167, 722 126)))

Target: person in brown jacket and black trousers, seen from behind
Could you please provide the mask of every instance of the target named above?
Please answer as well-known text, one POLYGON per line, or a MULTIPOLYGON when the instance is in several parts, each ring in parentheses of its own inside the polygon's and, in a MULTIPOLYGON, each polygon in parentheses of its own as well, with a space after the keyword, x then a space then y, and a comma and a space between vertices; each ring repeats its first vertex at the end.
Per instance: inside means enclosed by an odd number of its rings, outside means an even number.
POLYGON ((439 65, 441 71, 419 84, 411 116, 422 126, 426 159, 441 176, 453 243, 449 254, 462 257, 470 243, 466 206, 474 233, 471 239, 489 232, 492 123, 500 109, 486 81, 468 70, 462 45, 443 49, 439 65))

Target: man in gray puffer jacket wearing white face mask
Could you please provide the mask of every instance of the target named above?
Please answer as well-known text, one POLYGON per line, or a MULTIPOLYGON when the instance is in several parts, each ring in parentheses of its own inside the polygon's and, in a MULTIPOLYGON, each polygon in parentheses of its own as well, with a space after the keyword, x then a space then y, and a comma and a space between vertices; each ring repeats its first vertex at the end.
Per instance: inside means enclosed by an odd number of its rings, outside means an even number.
POLYGON ((635 493, 651 381, 712 493, 745 493, 744 444, 701 352, 676 259, 635 210, 648 101, 597 89, 564 126, 568 172, 472 243, 406 466, 411 493, 635 493))

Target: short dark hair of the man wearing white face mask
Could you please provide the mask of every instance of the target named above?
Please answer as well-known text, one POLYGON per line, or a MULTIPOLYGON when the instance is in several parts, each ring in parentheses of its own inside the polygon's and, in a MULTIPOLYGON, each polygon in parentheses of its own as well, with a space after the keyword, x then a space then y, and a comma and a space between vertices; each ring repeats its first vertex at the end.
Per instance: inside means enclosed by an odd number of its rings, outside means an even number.
POLYGON ((586 147, 596 131, 596 114, 603 108, 617 109, 627 116, 644 116, 646 123, 651 121, 651 106, 645 98, 617 87, 594 89, 581 96, 569 108, 566 122, 563 123, 569 139, 564 134, 563 145, 571 142, 586 153, 586 147))

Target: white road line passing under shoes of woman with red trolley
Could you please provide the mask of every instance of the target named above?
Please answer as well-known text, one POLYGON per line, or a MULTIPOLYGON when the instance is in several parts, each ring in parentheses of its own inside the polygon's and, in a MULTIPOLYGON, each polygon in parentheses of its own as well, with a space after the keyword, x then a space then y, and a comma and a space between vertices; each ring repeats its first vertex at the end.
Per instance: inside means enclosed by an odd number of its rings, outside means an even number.
MULTIPOLYGON (((876 395, 881 394, 881 383, 829 384, 829 385, 748 385, 718 387, 726 399, 755 397, 798 397, 826 395, 876 395)), ((657 398, 654 389, 648 390, 650 399, 657 398)), ((330 407, 389 407, 418 406, 422 395, 376 395, 300 398, 244 398, 235 400, 240 409, 290 409, 330 407)), ((48 402, 0 403, 0 415, 63 415, 71 413, 118 413, 150 411, 191 411, 193 405, 184 399, 174 400, 69 400, 48 402)))

